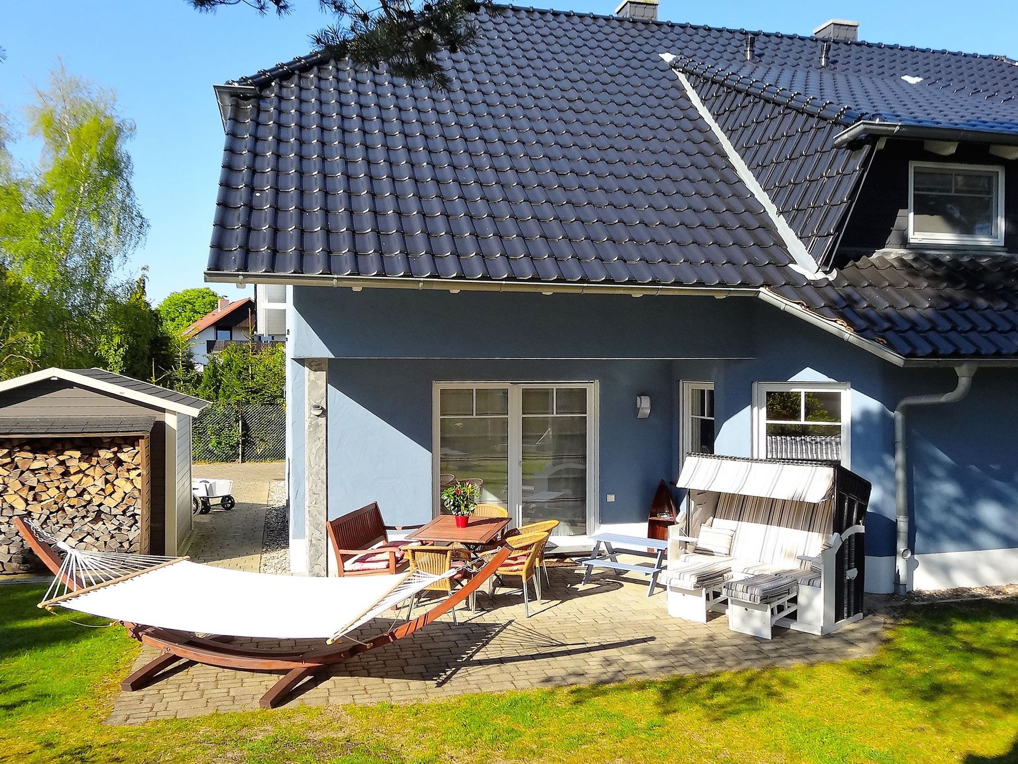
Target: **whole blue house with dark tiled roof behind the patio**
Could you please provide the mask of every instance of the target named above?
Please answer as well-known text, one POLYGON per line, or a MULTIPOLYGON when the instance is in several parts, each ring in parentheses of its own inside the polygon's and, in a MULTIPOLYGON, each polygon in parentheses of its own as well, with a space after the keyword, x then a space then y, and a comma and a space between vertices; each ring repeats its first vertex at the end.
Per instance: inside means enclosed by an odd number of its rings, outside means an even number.
POLYGON ((292 569, 441 473, 641 533, 715 451, 870 480, 872 591, 1018 581, 1016 63, 619 13, 482 15, 446 93, 217 89, 206 278, 288 285, 292 569))

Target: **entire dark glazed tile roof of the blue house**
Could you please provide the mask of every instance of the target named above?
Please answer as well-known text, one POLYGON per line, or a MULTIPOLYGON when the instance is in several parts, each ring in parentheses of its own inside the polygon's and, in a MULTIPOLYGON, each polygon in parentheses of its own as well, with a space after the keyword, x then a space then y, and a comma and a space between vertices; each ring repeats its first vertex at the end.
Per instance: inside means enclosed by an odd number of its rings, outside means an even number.
MULTIPOLYGON (((1018 135, 1013 62, 827 41, 821 67, 822 41, 764 33, 747 62, 741 30, 522 8, 478 26, 447 93, 321 56, 234 83, 209 277, 767 289, 901 356, 968 355, 913 336, 942 324, 921 290, 890 300, 915 324, 889 339, 848 275, 810 270, 872 155, 836 137, 878 119, 1018 135)), ((988 268, 965 289, 1018 307, 988 268)))

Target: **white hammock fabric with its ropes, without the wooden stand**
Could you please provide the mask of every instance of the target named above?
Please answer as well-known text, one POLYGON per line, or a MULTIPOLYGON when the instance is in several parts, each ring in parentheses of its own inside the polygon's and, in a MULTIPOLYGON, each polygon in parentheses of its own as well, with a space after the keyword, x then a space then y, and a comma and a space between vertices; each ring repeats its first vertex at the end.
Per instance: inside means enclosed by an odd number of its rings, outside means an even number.
POLYGON ((75 593, 58 575, 41 607, 59 605, 110 621, 230 637, 332 642, 454 573, 273 576, 186 557, 82 551, 58 541, 53 545, 65 553, 61 574, 96 588, 75 593))

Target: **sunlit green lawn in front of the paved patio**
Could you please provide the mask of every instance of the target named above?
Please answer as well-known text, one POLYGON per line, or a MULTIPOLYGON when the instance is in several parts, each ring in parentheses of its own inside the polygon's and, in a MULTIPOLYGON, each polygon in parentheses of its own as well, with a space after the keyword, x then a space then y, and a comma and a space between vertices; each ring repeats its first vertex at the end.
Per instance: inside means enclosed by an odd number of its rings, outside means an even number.
POLYGON ((0 587, 3 762, 1018 764, 1014 600, 913 608, 843 663, 125 727, 104 719, 136 645, 41 594, 0 587))

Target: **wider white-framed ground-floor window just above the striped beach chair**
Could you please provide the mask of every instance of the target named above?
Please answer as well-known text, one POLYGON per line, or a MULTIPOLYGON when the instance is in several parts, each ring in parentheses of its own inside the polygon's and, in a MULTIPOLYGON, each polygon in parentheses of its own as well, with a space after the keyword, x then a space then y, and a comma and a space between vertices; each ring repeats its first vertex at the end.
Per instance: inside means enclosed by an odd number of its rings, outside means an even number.
POLYGON ((851 391, 846 383, 754 383, 753 456, 835 459, 851 456, 851 391))

